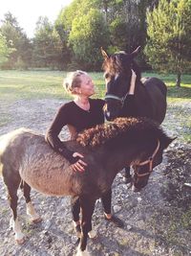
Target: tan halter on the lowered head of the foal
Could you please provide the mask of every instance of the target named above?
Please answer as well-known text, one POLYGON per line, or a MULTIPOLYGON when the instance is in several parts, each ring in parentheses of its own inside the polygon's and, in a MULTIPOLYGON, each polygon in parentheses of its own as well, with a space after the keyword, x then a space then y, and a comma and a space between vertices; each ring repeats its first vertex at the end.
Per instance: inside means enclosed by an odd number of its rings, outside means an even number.
POLYGON ((153 160, 154 160, 154 157, 156 156, 158 151, 159 151, 159 140, 158 140, 157 148, 155 149, 153 154, 151 156, 149 156, 149 158, 147 160, 145 160, 143 162, 139 162, 136 165, 133 165, 134 171, 135 171, 136 175, 138 175, 138 177, 150 175, 153 172, 153 160), (149 164, 149 171, 145 174, 138 174, 138 167, 139 166, 144 166, 144 165, 147 165, 147 164, 149 164))

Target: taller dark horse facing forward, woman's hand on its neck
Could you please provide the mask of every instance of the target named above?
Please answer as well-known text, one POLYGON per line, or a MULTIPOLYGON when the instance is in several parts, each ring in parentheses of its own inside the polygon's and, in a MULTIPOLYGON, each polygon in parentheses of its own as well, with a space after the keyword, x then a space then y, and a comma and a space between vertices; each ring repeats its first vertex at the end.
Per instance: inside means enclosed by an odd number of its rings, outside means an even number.
MULTIPOLYGON (((105 116, 107 120, 117 117, 148 117, 162 123, 166 113, 166 85, 157 78, 141 79, 134 58, 139 47, 131 54, 119 52, 112 56, 101 49, 106 82, 105 116), (133 78, 135 74, 135 81, 133 78), (135 82, 135 84, 132 84, 135 82), (135 85, 134 99, 129 96, 130 86, 135 85)), ((126 178, 130 169, 126 168, 126 178)))

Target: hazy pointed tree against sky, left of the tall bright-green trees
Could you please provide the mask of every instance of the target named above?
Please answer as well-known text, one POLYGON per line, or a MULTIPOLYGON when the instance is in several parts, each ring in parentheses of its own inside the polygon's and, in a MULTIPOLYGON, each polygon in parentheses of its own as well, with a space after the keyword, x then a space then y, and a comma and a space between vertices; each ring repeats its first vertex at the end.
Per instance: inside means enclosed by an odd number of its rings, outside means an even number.
POLYGON ((61 68, 62 44, 48 17, 39 17, 33 39, 32 62, 37 67, 61 68))

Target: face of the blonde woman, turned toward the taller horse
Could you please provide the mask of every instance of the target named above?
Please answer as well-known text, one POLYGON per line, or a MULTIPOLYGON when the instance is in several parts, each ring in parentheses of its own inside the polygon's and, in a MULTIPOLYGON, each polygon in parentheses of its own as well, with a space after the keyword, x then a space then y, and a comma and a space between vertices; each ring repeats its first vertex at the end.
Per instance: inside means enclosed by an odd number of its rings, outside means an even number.
POLYGON ((79 95, 90 97, 95 94, 95 84, 90 76, 83 74, 80 76, 80 80, 81 84, 78 88, 79 95))

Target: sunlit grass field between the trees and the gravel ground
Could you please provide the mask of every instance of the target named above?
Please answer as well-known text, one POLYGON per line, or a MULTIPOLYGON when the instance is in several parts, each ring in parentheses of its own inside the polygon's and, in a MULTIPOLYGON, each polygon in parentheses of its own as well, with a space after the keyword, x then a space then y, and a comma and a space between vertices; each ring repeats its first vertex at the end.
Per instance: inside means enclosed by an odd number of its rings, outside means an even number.
MULTIPOLYGON (((102 73, 90 73, 96 83, 96 97, 103 98, 105 85, 102 73)), ((0 71, 0 100, 7 103, 19 99, 70 98, 62 87, 66 72, 61 71, 0 71)), ((175 75, 143 73, 142 77, 158 77, 168 86, 168 102, 191 99, 191 75, 181 78, 181 87, 174 84, 175 75)))

